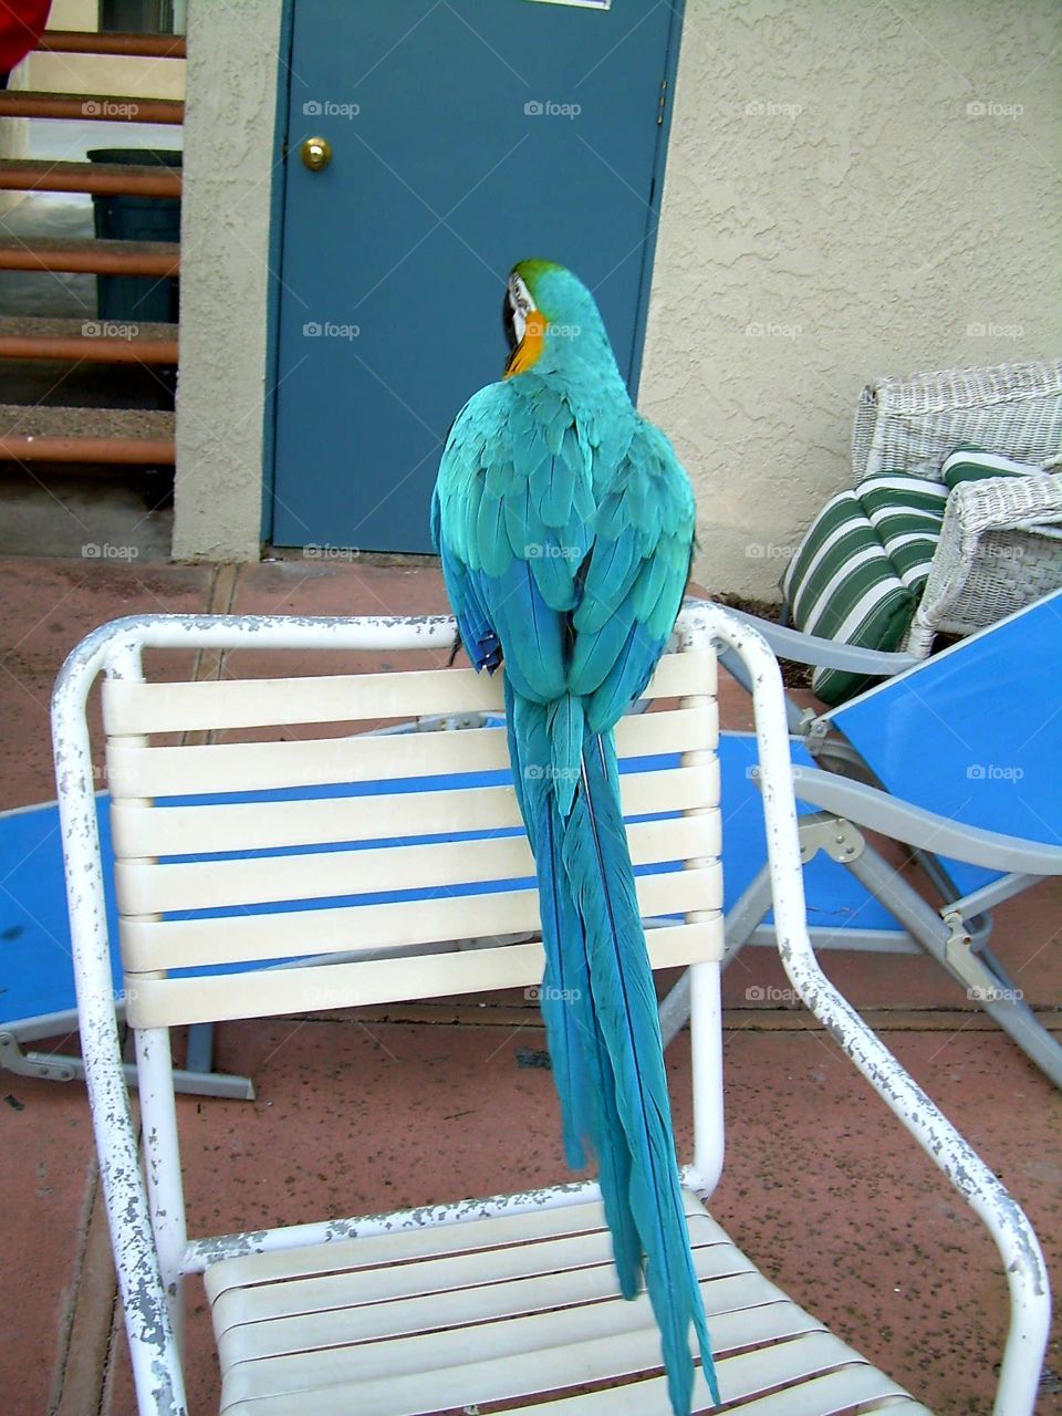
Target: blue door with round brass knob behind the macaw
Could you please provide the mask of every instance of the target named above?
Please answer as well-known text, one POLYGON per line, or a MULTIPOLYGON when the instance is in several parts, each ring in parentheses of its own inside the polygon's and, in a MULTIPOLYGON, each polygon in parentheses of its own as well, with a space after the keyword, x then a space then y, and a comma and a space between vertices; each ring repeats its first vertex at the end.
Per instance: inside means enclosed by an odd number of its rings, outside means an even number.
POLYGON ((429 551, 517 261, 582 276, 636 389, 681 6, 292 0, 290 20, 266 538, 429 551))

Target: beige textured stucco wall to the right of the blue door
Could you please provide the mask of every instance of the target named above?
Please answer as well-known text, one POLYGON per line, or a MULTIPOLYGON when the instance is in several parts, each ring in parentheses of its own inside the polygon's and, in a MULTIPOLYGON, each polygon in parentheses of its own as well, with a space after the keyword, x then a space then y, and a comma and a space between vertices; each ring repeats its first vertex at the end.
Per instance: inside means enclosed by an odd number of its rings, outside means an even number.
POLYGON ((1058 357, 1056 0, 687 0, 640 406, 773 599, 882 374, 1058 357))

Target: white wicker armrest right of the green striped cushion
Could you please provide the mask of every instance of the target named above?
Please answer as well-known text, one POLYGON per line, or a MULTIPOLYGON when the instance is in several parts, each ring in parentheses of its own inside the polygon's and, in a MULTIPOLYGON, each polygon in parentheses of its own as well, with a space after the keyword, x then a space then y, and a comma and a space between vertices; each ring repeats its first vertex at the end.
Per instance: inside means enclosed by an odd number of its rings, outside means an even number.
POLYGON ((1062 473, 963 481, 947 498, 908 651, 925 657, 940 630, 969 634, 1062 585, 1062 473))

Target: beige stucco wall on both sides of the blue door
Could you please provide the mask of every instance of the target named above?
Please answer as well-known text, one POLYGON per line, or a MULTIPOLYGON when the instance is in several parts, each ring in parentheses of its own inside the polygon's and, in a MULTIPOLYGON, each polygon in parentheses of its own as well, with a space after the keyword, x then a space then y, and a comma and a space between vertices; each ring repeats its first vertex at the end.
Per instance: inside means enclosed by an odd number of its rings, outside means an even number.
MULTIPOLYGON (((279 10, 190 6, 178 556, 258 554, 279 10)), ((864 382, 1058 357, 1061 42, 1056 0, 687 0, 640 404, 709 589, 775 596, 864 382)))

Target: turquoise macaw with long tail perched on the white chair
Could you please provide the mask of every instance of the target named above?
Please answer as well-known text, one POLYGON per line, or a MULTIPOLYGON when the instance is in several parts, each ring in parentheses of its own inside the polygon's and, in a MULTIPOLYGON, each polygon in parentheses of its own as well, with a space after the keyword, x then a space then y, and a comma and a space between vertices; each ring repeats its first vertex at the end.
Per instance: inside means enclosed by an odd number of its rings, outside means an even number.
POLYGON ((598 306, 569 270, 521 261, 500 382, 450 428, 432 535, 460 643, 504 664, 513 782, 535 858, 539 991, 568 1163, 598 1161, 619 1287, 644 1279, 674 1416, 690 1325, 719 1400, 675 1161, 657 997, 619 797, 613 728, 678 615, 694 497, 634 409, 598 306))

